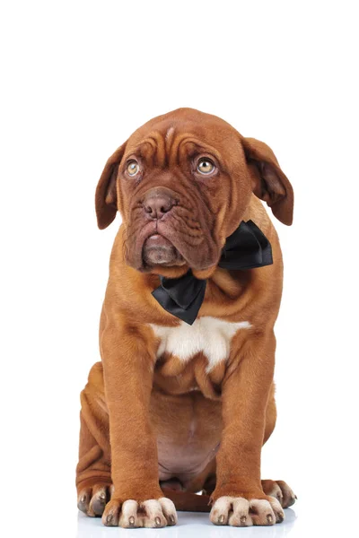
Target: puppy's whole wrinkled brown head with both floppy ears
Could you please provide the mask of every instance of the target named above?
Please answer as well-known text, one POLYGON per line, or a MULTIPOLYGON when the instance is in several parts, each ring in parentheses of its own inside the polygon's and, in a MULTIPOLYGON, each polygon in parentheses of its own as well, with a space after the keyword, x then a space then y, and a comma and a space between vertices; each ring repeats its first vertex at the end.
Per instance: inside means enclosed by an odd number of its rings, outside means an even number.
POLYGON ((99 227, 117 211, 124 252, 138 271, 207 275, 252 192, 285 224, 293 189, 264 143, 219 117, 180 108, 144 124, 109 158, 96 190, 99 227))

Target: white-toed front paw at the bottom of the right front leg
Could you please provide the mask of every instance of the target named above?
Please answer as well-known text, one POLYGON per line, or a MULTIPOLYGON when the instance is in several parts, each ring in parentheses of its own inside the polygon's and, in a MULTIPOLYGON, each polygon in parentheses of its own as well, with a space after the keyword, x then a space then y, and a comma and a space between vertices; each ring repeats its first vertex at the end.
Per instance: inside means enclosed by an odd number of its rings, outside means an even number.
POLYGON ((220 497, 215 501, 209 518, 215 525, 275 525, 285 519, 285 513, 274 497, 250 500, 220 497))

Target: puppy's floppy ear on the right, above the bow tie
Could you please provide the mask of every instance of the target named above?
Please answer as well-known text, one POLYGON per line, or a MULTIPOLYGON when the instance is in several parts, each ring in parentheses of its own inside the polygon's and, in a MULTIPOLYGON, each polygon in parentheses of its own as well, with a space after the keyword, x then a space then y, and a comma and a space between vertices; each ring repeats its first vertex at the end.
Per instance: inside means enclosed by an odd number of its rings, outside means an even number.
POLYGON ((242 138, 252 179, 253 193, 267 202, 276 218, 290 226, 293 222, 293 187, 281 170, 267 143, 242 138))

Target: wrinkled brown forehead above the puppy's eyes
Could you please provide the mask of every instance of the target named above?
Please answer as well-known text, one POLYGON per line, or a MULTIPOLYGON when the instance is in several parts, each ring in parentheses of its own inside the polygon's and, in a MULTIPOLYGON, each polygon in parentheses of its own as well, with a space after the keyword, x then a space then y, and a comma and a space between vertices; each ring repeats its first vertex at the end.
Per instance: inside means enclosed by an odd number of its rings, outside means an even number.
POLYGON ((130 136, 124 160, 139 157, 156 166, 180 164, 198 154, 226 164, 242 154, 240 135, 219 118, 198 121, 165 120, 145 124, 130 136))

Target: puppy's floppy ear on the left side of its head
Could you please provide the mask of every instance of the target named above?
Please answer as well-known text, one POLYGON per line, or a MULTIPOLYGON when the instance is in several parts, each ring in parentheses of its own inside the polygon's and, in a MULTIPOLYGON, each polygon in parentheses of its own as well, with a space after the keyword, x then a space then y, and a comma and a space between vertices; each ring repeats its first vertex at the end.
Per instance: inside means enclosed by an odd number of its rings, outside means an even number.
POLYGON ((119 146, 116 152, 109 157, 96 187, 95 207, 97 224, 100 230, 109 226, 118 211, 116 179, 118 176, 118 164, 124 155, 126 144, 127 142, 119 146))

